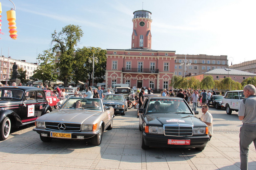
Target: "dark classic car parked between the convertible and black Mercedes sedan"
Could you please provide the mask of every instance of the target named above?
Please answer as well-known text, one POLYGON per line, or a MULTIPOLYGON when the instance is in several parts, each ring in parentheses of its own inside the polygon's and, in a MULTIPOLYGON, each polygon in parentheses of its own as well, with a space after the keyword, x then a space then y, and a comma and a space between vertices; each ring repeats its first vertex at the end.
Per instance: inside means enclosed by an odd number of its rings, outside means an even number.
POLYGON ((127 111, 127 100, 124 98, 122 94, 111 94, 106 95, 103 99, 104 106, 112 106, 115 110, 115 114, 120 113, 121 115, 125 115, 125 111, 127 111))

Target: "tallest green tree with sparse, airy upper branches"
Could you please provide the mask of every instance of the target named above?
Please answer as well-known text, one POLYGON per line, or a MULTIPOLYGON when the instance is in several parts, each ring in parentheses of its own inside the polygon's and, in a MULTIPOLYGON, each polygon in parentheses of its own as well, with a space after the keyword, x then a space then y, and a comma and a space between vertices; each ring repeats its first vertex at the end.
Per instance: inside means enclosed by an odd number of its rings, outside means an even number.
POLYGON ((53 51, 60 52, 56 68, 59 70, 59 79, 64 82, 65 87, 73 76, 74 51, 81 37, 83 31, 78 25, 68 25, 59 33, 55 30, 52 34, 53 51))

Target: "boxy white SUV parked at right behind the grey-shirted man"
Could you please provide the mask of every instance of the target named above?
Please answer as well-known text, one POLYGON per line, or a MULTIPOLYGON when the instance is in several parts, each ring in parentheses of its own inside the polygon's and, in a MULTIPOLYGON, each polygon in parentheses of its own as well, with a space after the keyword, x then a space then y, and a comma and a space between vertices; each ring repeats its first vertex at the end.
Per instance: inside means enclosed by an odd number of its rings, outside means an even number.
POLYGON ((244 91, 243 90, 234 90, 227 91, 222 100, 222 106, 225 107, 225 110, 228 115, 232 113, 232 110, 238 111, 240 103, 244 99, 244 91))

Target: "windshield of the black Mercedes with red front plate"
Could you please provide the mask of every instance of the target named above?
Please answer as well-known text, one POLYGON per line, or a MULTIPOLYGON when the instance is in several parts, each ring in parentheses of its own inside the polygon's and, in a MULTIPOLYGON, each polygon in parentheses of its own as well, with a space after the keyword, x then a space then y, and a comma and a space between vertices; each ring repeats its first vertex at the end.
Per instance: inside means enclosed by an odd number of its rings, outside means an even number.
POLYGON ((183 100, 177 99, 151 99, 147 114, 150 113, 189 113, 189 107, 183 100))

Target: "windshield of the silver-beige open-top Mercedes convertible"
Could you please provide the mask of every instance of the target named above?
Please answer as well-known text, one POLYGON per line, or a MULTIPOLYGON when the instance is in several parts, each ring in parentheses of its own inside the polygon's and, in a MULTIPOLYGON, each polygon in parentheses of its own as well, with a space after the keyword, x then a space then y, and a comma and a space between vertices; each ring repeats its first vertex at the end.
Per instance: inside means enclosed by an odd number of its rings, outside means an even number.
POLYGON ((62 108, 70 109, 95 109, 102 110, 101 102, 99 98, 69 98, 62 108))

